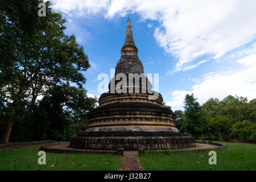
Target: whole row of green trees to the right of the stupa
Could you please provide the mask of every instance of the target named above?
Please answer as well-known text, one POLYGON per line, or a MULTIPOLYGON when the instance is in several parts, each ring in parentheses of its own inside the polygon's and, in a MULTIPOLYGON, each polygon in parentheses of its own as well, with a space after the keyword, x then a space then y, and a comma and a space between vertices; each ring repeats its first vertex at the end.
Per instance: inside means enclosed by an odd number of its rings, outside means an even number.
POLYGON ((256 99, 227 96, 210 98, 202 106, 185 96, 185 111, 175 111, 175 125, 182 133, 202 139, 255 139, 256 99), (242 122, 241 122, 242 121, 242 122))

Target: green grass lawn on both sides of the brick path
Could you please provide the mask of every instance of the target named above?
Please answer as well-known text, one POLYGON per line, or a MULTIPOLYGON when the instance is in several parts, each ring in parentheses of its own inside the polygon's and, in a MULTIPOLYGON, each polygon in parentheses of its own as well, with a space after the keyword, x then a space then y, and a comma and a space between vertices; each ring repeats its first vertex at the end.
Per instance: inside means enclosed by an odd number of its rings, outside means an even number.
MULTIPOLYGON (((216 150, 217 164, 208 163, 209 151, 140 155, 145 170, 256 170, 256 144, 226 143, 216 150)), ((0 170, 117 170, 122 156, 46 153, 46 165, 38 164, 40 146, 0 150, 0 170)))

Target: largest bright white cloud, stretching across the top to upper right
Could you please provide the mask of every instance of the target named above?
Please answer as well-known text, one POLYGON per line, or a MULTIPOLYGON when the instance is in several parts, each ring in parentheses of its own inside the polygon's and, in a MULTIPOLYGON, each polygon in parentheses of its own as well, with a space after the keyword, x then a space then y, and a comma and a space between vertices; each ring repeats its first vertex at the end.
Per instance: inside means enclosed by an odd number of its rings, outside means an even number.
POLYGON ((142 20, 157 20, 155 39, 177 58, 176 71, 192 69, 188 64, 196 57, 210 54, 219 59, 256 38, 254 0, 55 0, 53 4, 70 16, 101 14, 111 19, 137 13, 142 20))

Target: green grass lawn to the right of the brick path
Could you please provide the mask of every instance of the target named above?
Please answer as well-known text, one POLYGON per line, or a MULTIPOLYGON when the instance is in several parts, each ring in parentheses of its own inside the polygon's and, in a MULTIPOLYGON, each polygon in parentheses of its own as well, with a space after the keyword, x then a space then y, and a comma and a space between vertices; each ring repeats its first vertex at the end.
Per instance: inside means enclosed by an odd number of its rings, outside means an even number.
POLYGON ((256 144, 226 143, 215 150, 217 164, 210 165, 209 151, 151 153, 139 156, 145 170, 256 170, 256 144))

